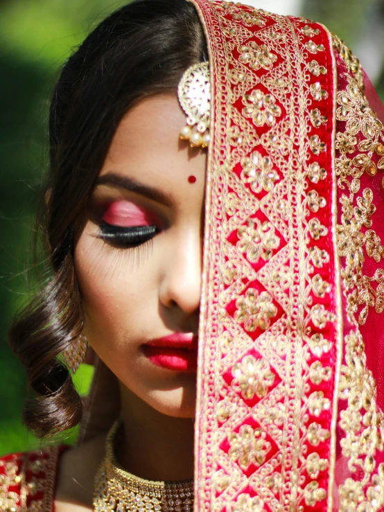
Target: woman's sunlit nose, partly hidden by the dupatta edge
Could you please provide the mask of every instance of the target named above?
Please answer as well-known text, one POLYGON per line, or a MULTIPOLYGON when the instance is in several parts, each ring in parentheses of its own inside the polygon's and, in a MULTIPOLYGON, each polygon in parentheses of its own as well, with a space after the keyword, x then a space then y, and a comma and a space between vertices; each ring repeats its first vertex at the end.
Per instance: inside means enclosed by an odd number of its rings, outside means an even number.
POLYGON ((179 308, 192 315, 200 306, 202 281, 202 240, 198 230, 184 230, 180 237, 175 236, 175 245, 167 253, 159 300, 168 309, 179 308))

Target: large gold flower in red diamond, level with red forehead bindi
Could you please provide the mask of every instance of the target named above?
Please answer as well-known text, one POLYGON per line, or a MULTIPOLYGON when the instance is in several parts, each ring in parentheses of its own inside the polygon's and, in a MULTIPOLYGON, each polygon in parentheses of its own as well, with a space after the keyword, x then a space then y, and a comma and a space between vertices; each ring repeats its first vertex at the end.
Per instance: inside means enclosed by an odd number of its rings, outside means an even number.
POLYGON ((270 192, 279 179, 279 175, 272 167, 269 157, 261 157, 260 153, 254 151, 250 157, 241 160, 243 170, 241 178, 249 183, 252 191, 259 193, 262 190, 270 192))

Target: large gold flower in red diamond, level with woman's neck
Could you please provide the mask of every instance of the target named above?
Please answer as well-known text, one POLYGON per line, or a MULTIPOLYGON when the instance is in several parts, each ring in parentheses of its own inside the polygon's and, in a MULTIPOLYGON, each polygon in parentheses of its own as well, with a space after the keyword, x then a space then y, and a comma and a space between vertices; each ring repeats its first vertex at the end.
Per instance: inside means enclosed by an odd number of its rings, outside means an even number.
POLYGON ((241 425, 239 432, 228 436, 229 457, 247 470, 251 464, 261 466, 271 450, 271 444, 265 440, 266 433, 260 427, 253 429, 250 425, 241 425))

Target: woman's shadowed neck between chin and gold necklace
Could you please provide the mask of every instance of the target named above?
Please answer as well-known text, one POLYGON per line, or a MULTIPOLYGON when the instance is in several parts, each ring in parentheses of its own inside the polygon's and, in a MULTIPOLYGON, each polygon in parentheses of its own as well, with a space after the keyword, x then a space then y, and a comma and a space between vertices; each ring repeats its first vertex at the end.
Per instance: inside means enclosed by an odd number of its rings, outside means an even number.
POLYGON ((148 480, 193 478, 192 418, 174 418, 153 409, 121 387, 123 439, 116 459, 132 475, 148 480))

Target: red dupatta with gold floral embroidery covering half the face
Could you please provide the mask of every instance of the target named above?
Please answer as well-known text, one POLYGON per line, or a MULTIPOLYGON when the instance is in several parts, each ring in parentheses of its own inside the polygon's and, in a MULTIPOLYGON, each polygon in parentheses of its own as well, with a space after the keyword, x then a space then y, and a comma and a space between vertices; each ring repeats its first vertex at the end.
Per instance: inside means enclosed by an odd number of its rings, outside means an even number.
POLYGON ((320 24, 193 4, 213 95, 195 511, 384 510, 384 139, 363 71, 320 24))

